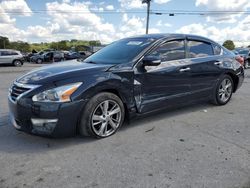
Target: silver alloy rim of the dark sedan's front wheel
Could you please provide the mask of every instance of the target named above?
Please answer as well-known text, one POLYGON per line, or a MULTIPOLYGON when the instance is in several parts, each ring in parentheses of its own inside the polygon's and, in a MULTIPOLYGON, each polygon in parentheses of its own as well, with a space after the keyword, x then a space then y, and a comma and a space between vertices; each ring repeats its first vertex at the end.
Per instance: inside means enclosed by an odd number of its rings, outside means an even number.
POLYGON ((91 126, 95 134, 107 137, 113 134, 121 124, 121 107, 113 100, 100 103, 91 119, 91 126))

